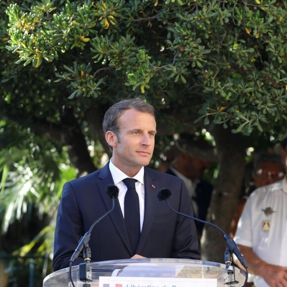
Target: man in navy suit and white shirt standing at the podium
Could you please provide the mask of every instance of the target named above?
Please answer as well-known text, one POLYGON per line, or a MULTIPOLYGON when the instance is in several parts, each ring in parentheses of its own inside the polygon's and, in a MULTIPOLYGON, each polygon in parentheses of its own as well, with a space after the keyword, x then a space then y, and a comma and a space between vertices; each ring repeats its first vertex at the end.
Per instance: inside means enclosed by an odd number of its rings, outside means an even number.
MULTIPOLYGON (((184 182, 146 167, 156 134, 153 107, 140 98, 122 100, 105 113, 103 131, 112 149, 111 160, 102 169, 63 187, 54 237, 53 269, 69 266, 79 239, 111 208, 112 200, 105 192, 109 184, 119 188, 119 195, 115 209, 92 231, 91 261, 144 257, 199 259, 194 222, 175 214, 166 202, 157 198, 161 189, 168 188, 172 191, 169 202, 173 208, 193 215, 184 182), (123 180, 126 178, 136 180, 138 194, 140 237, 135 249, 125 223, 128 191, 123 180)), ((82 262, 81 255, 73 265, 82 262)))

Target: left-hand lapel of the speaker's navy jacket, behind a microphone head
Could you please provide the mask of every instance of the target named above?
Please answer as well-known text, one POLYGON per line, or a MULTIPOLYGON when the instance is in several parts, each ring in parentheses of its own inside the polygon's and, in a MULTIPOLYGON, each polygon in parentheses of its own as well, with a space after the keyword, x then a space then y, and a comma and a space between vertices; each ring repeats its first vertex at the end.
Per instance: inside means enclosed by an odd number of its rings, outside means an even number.
MULTIPOLYGON (((99 179, 101 179, 98 183, 98 190, 101 193, 103 202, 106 206, 106 209, 109 210, 111 208, 111 198, 106 194, 106 187, 110 184, 113 184, 113 178, 110 173, 108 163, 100 170, 99 172, 99 179)), ((126 230, 126 225, 124 221, 124 217, 121 211, 120 203, 118 198, 115 200, 115 208, 114 210, 109 214, 113 225, 115 229, 117 230, 119 236, 122 238, 123 242, 125 243, 126 247, 129 249, 129 251, 132 253, 132 246, 130 244, 130 239, 128 237, 128 233, 126 230)), ((114 236, 114 235, 112 235, 114 236)))

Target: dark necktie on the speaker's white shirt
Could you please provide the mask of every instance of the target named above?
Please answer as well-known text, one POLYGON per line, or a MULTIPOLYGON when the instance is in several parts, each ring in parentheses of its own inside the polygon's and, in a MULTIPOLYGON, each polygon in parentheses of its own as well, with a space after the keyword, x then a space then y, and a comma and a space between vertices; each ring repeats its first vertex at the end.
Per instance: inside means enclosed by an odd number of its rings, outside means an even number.
POLYGON ((123 180, 128 190, 125 196, 125 223, 134 252, 141 235, 140 203, 139 195, 136 191, 137 180, 126 178, 123 180))

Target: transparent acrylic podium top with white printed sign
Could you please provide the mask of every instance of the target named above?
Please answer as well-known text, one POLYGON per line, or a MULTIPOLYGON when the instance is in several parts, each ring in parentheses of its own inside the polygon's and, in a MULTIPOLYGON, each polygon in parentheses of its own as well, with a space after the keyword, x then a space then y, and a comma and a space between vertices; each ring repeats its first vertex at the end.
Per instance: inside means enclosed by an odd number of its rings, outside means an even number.
MULTIPOLYGON (((86 265, 91 281, 91 287, 113 286, 170 286, 177 287, 208 287, 236 286, 241 287, 245 281, 245 273, 239 268, 200 260, 144 258, 93 262, 86 265), (139 284, 137 279, 147 280, 139 284), (157 284, 152 279, 161 282, 157 284), (105 281, 101 280, 105 279, 105 281), (129 280, 131 279, 131 280, 129 280), (121 284, 115 280, 123 280, 121 284), (151 280, 151 281, 148 281, 151 280), (212 284, 209 284, 209 281, 212 284), (133 283, 132 283, 133 282, 133 283), (149 283, 148 283, 149 282, 149 283), (151 283, 150 283, 151 282, 151 283), (175 283, 174 283, 175 282, 175 283), (124 284, 122 284, 124 283, 124 284), (134 284, 135 283, 135 284, 134 284)), ((72 278, 75 287, 87 286, 81 281, 79 266, 72 267, 72 278)), ((64 268, 48 275, 43 281, 43 287, 72 287, 69 268, 64 268)))

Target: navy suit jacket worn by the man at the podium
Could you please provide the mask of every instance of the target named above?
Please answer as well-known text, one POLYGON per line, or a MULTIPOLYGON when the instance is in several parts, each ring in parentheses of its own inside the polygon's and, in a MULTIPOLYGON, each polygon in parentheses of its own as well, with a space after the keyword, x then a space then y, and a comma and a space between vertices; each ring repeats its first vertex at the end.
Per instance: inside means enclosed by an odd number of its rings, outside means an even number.
MULTIPOLYGON (((111 209, 112 199, 106 187, 113 179, 106 164, 85 177, 72 180, 63 187, 58 207, 54 236, 54 271, 69 266, 80 238, 101 215, 111 209)), ((169 202, 175 210, 193 215, 184 182, 171 175, 144 168, 144 224, 136 254, 147 258, 199 259, 194 221, 172 212, 158 192, 169 188, 169 202)), ((94 227, 89 246, 91 262, 128 259, 134 254, 125 227, 119 201, 114 210, 94 227)), ((82 255, 81 255, 82 256, 82 255)), ((73 263, 84 262, 79 256, 73 263)))

